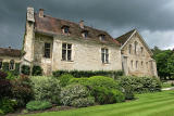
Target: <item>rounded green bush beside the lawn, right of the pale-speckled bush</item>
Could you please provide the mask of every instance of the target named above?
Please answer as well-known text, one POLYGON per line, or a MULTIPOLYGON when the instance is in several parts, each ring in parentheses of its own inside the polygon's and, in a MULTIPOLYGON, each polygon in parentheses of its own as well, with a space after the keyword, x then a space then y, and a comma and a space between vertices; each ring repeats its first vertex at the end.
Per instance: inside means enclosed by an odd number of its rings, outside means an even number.
POLYGON ((125 100, 121 91, 104 87, 95 87, 91 95, 95 96, 95 101, 99 104, 119 103, 125 100))

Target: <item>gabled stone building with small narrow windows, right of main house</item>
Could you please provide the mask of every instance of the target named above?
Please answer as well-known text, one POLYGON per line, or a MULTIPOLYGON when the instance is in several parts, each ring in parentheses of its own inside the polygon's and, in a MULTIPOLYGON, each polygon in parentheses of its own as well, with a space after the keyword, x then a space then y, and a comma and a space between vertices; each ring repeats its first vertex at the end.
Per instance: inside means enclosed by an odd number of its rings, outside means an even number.
POLYGON ((152 52, 136 29, 116 40, 122 44, 122 66, 125 75, 158 76, 152 52))

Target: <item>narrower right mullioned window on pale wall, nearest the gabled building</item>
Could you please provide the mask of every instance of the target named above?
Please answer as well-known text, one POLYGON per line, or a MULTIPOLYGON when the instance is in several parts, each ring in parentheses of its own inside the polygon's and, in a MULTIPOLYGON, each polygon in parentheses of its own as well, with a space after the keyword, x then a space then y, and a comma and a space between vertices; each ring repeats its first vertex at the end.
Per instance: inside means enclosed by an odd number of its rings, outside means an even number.
POLYGON ((109 63, 109 50, 102 48, 101 49, 101 61, 102 63, 109 63))

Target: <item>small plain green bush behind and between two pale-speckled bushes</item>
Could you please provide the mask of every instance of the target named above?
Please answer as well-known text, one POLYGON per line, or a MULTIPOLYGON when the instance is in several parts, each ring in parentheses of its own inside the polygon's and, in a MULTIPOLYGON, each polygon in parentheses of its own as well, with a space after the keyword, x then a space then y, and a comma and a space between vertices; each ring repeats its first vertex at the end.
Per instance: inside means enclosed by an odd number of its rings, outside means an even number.
POLYGON ((73 78, 74 78, 74 77, 73 77, 72 75, 70 75, 70 74, 64 74, 64 75, 60 76, 60 77, 59 77, 59 80, 60 80, 61 87, 67 86, 67 85, 69 85, 69 81, 70 81, 71 79, 73 79, 73 78))

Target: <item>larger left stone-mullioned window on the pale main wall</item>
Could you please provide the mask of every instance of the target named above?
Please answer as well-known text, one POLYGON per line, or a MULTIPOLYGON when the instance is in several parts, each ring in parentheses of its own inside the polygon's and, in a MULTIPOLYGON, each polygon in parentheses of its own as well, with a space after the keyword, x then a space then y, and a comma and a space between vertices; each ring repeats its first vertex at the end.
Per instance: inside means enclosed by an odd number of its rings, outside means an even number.
POLYGON ((62 60, 63 61, 72 60, 72 44, 62 43, 62 60))

